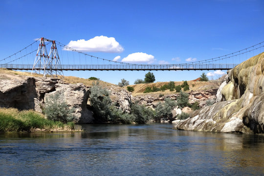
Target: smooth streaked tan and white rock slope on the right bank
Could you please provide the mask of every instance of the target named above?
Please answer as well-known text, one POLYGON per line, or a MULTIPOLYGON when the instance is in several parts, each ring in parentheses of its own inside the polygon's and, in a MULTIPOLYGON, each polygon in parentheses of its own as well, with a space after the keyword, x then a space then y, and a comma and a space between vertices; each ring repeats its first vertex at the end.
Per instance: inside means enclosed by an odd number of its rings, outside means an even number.
POLYGON ((264 133, 264 53, 228 71, 218 103, 194 111, 174 129, 264 133))

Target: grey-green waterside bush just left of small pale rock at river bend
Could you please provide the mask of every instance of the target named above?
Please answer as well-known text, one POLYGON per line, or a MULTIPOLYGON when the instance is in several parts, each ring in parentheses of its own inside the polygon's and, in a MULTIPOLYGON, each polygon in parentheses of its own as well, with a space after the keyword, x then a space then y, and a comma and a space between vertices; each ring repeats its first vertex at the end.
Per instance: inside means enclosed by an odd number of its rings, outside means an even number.
POLYGON ((160 121, 162 118, 170 119, 172 118, 172 110, 177 106, 177 102, 170 98, 165 98, 163 103, 159 103, 155 108, 154 120, 156 122, 160 121))

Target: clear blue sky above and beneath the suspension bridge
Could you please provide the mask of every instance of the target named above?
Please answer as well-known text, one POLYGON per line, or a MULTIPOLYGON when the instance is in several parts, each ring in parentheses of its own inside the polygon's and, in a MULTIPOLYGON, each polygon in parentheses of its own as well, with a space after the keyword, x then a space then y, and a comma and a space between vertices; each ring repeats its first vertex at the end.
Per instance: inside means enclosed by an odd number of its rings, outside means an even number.
MULTIPOLYGON (((40 37, 69 44, 104 36, 106 40, 99 39, 111 41, 116 47, 111 50, 108 45, 95 44, 95 49, 87 48, 88 54, 109 60, 120 56, 121 61, 131 58, 130 54, 143 53, 141 59, 146 56, 147 61, 137 60, 143 64, 186 63, 188 58, 200 61, 264 41, 264 0, 1 0, 0 3, 0 58, 40 37)), ((261 51, 264 48, 254 54, 261 51)), ((252 52, 235 58, 234 62, 251 56, 252 52)), ((32 60, 31 64, 34 59, 34 56, 27 58, 32 60)), ((72 58, 66 59, 62 53, 62 63, 67 64, 68 59, 72 58)), ((68 71, 64 74, 94 76, 114 84, 125 78, 133 84, 135 79, 144 79, 147 72, 68 71)), ((202 71, 153 73, 160 82, 193 80, 202 71)))

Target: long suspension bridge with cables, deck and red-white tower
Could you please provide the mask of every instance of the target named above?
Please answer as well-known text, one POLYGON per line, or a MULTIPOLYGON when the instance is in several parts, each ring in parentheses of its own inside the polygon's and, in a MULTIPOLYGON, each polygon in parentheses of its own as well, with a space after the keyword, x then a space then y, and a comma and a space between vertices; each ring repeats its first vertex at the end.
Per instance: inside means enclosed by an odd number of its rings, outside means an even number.
POLYGON ((253 53, 253 56, 254 51, 255 54, 261 53, 262 47, 264 47, 264 42, 233 53, 202 61, 184 64, 151 65, 112 61, 89 55, 54 40, 40 38, 20 51, 0 59, 0 68, 31 70, 31 73, 43 74, 44 76, 63 76, 64 70, 228 70, 241 63, 241 57, 244 55, 248 59, 247 55, 249 53, 253 53), (38 44, 37 47, 34 44, 38 44), (50 48, 49 54, 47 53, 47 48, 50 48), (59 56, 59 51, 61 52, 61 56, 59 56), (35 57, 34 64, 32 64, 33 57, 35 57), (67 64, 65 64, 66 61, 67 64), (79 61, 79 63, 76 64, 76 61, 79 61), (225 61, 225 64, 223 61, 225 61), (234 64, 234 61, 238 63, 234 64), (3 63, 1 64, 1 62, 3 63))

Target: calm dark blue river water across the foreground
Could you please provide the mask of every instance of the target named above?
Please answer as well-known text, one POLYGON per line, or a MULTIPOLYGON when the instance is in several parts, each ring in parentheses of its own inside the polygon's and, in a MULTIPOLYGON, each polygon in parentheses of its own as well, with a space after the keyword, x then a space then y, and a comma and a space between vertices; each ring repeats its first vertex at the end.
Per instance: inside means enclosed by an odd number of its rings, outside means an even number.
POLYGON ((155 123, 82 128, 0 133, 0 176, 264 175, 264 135, 175 131, 155 123))

